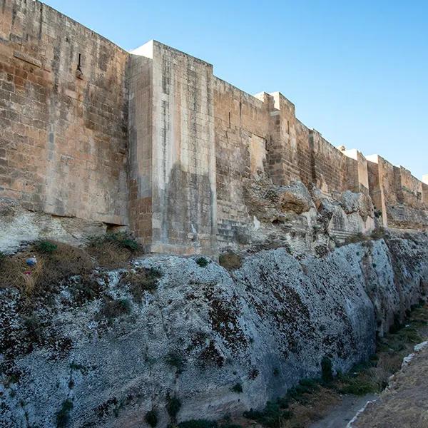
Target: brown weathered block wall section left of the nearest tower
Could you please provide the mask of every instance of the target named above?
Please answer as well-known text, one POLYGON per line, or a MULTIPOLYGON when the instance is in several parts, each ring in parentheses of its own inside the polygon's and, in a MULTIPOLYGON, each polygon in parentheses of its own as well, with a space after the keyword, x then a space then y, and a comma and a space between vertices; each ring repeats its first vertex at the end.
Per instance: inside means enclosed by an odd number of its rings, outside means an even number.
POLYGON ((39 1, 0 7, 0 195, 128 223, 128 54, 39 1))

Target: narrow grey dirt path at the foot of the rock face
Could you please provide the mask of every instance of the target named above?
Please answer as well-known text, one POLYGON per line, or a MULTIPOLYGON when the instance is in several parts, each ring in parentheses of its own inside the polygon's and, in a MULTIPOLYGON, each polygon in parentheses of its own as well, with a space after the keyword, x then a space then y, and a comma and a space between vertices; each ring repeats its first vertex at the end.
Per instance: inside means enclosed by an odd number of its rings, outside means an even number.
POLYGON ((377 399, 377 394, 367 394, 363 397, 345 395, 342 401, 333 407, 330 413, 309 428, 345 428, 355 414, 369 401, 377 399))

